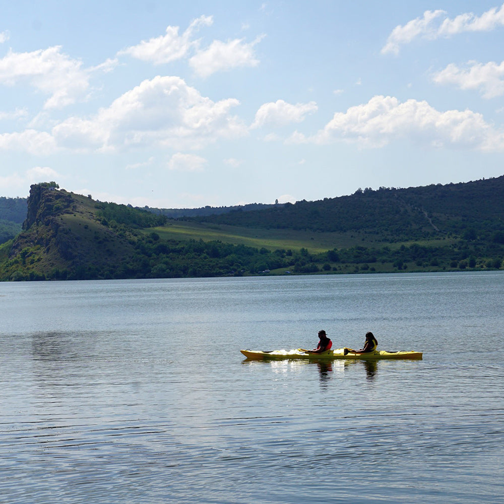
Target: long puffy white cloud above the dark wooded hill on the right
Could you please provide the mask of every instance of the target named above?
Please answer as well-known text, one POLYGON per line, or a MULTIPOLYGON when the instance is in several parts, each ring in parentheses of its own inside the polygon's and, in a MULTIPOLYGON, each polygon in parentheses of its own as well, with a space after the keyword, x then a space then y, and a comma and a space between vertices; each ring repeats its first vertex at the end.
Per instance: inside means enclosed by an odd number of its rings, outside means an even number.
POLYGON ((390 96, 374 96, 368 103, 336 112, 317 135, 306 138, 296 132, 291 142, 328 144, 335 141, 383 147, 397 140, 409 140, 433 147, 504 150, 504 132, 486 123, 471 110, 440 112, 426 101, 401 103, 390 96))

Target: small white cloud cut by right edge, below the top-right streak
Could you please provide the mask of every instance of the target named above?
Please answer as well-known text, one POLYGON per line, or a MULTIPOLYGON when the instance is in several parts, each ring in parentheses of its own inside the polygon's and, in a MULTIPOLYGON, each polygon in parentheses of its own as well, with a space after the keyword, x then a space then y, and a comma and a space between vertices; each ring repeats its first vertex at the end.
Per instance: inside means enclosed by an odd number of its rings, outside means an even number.
POLYGON ((437 84, 453 84, 460 89, 479 89, 484 98, 495 98, 504 94, 504 61, 500 64, 490 61, 486 64, 469 61, 466 68, 455 64, 433 76, 437 84))

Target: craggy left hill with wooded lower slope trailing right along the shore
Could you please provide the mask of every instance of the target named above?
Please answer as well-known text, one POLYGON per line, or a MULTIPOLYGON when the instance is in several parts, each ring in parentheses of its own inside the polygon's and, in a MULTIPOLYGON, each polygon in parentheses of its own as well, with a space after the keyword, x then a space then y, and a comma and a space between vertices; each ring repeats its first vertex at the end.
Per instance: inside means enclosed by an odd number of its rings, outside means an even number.
POLYGON ((30 188, 23 231, 0 245, 0 280, 241 275, 287 266, 266 248, 161 239, 166 217, 59 190, 30 188))

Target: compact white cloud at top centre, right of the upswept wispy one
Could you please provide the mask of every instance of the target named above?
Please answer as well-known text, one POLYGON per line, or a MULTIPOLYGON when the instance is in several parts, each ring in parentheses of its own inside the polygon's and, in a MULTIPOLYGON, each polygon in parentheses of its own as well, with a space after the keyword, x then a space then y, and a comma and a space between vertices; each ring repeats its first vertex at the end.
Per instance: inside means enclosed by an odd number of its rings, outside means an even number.
POLYGON ((253 42, 245 43, 244 39, 234 39, 228 42, 214 40, 210 46, 198 51, 190 60, 189 65, 200 77, 209 77, 220 70, 230 70, 237 67, 256 67, 254 46, 263 36, 253 42))

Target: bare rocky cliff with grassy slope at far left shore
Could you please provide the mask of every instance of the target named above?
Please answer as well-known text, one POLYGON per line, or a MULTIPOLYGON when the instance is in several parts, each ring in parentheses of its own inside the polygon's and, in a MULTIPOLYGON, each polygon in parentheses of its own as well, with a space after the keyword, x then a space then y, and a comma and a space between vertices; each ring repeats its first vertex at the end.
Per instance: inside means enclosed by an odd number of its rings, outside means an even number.
POLYGON ((0 267, 0 278, 95 278, 98 271, 117 268, 133 251, 124 230, 118 233, 104 223, 96 202, 46 183, 34 184, 23 232, 4 251, 7 261, 0 267))

